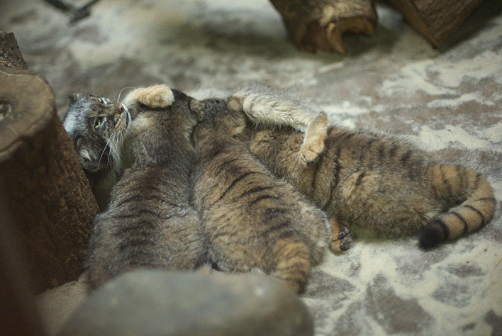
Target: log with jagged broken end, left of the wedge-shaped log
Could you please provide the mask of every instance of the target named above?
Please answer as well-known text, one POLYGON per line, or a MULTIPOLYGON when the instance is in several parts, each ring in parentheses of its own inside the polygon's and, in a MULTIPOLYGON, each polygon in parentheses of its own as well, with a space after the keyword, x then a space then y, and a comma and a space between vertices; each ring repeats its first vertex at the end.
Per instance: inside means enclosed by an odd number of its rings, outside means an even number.
POLYGON ((373 35, 374 0, 270 0, 293 43, 304 50, 345 54, 342 35, 373 35))

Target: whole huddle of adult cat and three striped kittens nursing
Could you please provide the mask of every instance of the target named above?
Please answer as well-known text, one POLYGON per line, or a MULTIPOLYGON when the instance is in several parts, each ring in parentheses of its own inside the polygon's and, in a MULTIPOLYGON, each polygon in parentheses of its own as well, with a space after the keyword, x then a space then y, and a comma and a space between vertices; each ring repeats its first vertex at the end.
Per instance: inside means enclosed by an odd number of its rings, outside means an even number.
POLYGON ((166 85, 123 102, 73 94, 63 125, 102 210, 85 274, 96 289, 138 268, 259 271, 301 293, 350 230, 419 233, 425 249, 491 220, 472 169, 252 86, 197 100, 166 85), (282 126, 282 127, 281 127, 282 126))

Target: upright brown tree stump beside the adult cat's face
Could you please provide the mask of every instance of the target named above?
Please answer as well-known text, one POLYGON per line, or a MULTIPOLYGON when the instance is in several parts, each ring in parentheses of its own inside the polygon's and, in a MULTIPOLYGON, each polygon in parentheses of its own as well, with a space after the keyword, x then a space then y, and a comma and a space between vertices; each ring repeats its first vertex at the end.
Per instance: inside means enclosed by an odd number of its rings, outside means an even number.
POLYGON ((13 34, 0 40, 0 186, 40 292, 78 278, 98 206, 52 89, 18 69, 13 34))

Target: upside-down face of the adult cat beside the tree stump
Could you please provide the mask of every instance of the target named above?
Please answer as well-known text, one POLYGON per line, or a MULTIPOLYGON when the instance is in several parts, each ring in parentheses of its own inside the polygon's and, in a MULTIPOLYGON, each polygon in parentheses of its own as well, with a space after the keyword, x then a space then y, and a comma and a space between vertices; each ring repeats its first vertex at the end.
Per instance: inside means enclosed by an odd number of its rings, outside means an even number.
POLYGON ((84 169, 118 169, 130 113, 122 103, 93 94, 72 94, 62 119, 84 169))

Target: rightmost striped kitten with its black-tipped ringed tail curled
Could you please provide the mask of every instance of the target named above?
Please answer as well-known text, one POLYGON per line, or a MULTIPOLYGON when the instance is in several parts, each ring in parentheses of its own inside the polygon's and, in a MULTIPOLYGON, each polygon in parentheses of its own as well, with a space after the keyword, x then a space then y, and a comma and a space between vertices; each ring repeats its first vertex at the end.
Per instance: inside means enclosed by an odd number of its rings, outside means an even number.
POLYGON ((437 163, 404 140, 333 126, 324 154, 304 167, 295 159, 303 134, 289 128, 249 132, 253 154, 350 228, 385 237, 420 232, 420 246, 430 248, 493 217, 496 201, 485 177, 437 163))

